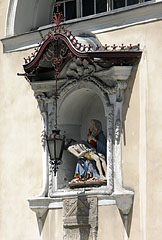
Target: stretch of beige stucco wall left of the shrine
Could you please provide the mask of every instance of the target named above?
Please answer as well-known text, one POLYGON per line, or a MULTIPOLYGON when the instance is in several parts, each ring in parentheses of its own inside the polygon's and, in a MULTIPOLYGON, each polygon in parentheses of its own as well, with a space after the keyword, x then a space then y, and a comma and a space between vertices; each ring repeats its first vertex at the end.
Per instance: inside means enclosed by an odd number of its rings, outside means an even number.
POLYGON ((27 198, 41 190, 41 121, 22 72, 27 52, 2 54, 0 43, 0 238, 39 239, 27 198))

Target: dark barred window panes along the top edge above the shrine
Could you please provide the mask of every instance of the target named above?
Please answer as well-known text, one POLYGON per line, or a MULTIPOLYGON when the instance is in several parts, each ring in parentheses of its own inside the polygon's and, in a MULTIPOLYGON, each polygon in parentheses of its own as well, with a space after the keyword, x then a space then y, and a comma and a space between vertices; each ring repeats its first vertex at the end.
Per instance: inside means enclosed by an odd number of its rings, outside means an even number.
MULTIPOLYGON (((56 0, 65 20, 86 17, 151 0, 56 0)), ((54 12, 56 8, 54 9, 54 12)))

